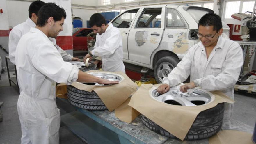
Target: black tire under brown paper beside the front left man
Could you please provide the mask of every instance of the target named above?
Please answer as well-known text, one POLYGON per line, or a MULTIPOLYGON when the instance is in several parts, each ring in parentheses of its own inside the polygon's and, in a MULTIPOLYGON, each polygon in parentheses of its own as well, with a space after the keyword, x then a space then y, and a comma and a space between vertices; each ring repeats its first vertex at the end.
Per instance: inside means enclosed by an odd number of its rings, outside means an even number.
POLYGON ((106 106, 94 91, 79 90, 67 85, 67 97, 70 104, 86 110, 106 110, 106 106))

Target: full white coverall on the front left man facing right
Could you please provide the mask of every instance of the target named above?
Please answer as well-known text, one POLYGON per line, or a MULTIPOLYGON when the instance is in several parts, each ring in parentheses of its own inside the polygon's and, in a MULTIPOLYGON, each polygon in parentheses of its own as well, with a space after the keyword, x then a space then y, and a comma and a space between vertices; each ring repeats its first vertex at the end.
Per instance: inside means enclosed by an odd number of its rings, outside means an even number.
POLYGON ((17 104, 21 143, 59 143, 56 82, 76 81, 78 67, 64 62, 49 38, 36 28, 22 36, 16 52, 17 77, 22 91, 17 104))

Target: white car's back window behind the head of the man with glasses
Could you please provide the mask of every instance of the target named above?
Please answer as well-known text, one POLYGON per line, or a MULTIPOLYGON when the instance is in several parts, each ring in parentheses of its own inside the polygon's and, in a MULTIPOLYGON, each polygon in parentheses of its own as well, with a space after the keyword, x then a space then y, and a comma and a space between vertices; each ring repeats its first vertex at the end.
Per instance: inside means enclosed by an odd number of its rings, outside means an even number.
MULTIPOLYGON (((213 12, 213 10, 208 9, 208 8, 202 8, 202 7, 196 7, 196 6, 186 6, 185 8, 183 8, 184 10, 186 10, 189 15, 191 15, 191 17, 193 17, 193 19, 195 19, 195 22, 198 24, 200 18, 209 13, 209 12, 213 12)), ((222 21, 222 27, 228 27, 228 25, 222 21)))

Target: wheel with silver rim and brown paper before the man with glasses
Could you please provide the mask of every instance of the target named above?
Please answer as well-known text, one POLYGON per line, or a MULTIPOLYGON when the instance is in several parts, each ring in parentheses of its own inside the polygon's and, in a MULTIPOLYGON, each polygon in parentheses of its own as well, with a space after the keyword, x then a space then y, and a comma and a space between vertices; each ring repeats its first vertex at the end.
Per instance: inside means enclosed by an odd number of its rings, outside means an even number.
MULTIPOLYGON (((156 90, 153 90, 151 93, 151 96, 154 97, 154 99, 173 105, 197 106, 210 103, 214 99, 214 97, 209 94, 197 89, 191 89, 192 91, 189 95, 184 95, 177 88, 170 88, 169 92, 163 95, 159 95, 156 90)), ((195 121, 184 140, 200 140, 213 136, 221 129, 223 115, 224 103, 217 104, 213 108, 201 111, 195 118, 195 121)), ((144 115, 141 115, 140 118, 143 124, 150 130, 163 136, 176 138, 144 115)))

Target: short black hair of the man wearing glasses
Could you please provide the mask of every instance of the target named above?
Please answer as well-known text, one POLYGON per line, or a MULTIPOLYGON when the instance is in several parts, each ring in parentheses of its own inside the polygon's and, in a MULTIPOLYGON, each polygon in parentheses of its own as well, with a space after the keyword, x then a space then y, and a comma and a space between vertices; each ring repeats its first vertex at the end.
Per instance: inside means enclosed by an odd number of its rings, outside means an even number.
POLYGON ((207 13, 199 20, 199 26, 213 26, 213 30, 218 32, 222 28, 221 17, 215 13, 207 13))

